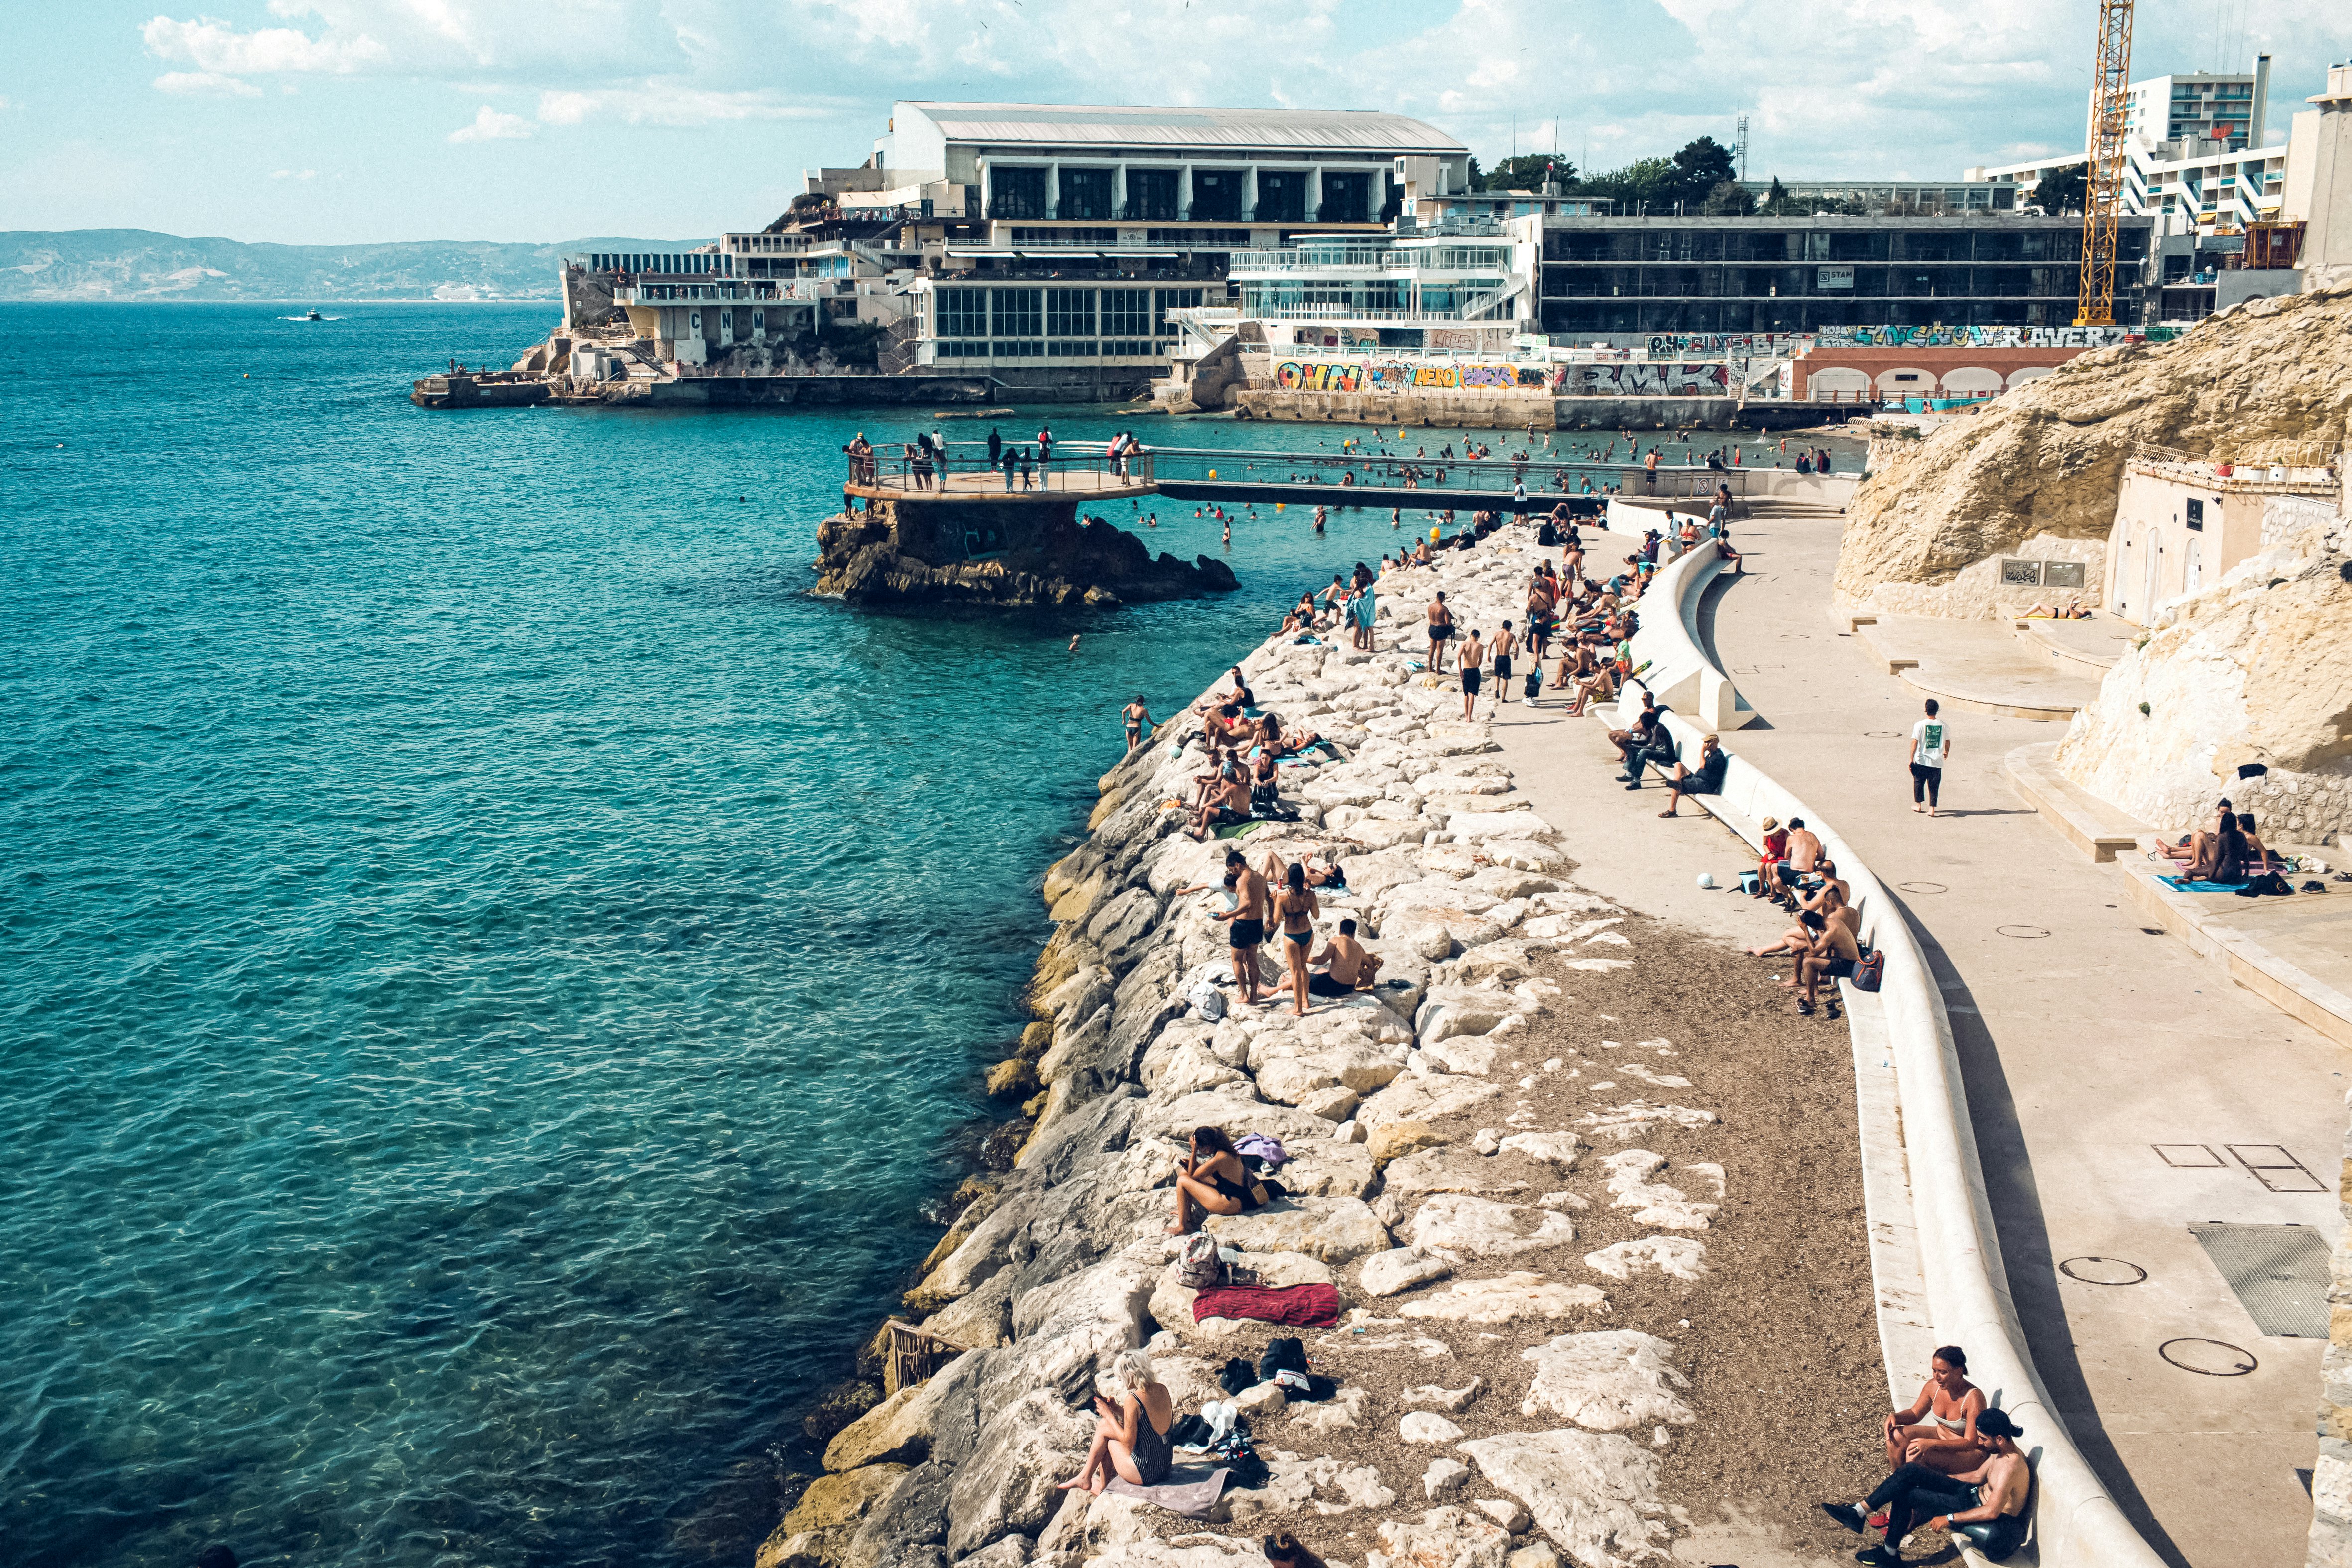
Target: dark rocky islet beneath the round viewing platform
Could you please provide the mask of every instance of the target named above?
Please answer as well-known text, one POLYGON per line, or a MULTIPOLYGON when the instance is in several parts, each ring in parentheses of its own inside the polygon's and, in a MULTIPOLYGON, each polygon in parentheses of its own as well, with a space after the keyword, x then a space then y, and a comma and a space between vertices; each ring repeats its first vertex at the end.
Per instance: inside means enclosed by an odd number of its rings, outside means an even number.
POLYGON ((851 604, 1108 607, 1240 588, 1225 562, 1152 555, 1068 501, 870 501, 821 522, 816 548, 816 592, 851 604), (981 524, 993 536, 967 538, 981 524))

